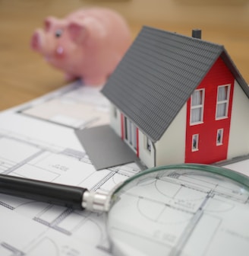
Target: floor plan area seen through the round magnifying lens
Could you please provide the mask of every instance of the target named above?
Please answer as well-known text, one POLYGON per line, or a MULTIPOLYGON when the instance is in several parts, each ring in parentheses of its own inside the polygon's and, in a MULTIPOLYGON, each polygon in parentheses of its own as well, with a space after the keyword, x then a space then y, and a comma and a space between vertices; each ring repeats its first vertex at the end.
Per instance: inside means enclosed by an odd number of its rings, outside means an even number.
POLYGON ((131 241, 143 255, 247 255, 248 189, 185 169, 134 184, 109 216, 111 235, 128 255, 131 241))

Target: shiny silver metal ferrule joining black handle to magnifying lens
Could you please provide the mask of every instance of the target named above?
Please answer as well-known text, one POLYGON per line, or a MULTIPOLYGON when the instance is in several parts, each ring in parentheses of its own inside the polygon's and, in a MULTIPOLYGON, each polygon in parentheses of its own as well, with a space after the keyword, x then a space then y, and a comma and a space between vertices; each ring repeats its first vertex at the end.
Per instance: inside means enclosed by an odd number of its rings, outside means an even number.
POLYGON ((82 207, 93 212, 107 212, 109 210, 109 195, 85 191, 82 207))

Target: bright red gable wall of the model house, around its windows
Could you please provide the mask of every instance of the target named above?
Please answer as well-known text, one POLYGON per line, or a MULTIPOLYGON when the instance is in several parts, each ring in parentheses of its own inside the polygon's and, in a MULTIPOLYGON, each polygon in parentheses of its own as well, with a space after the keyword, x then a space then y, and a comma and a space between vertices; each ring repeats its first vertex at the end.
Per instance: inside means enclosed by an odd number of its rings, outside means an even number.
POLYGON ((198 88, 205 88, 203 123, 190 125, 191 99, 187 103, 185 162, 210 164, 225 160, 228 152, 229 130, 234 91, 234 77, 219 57, 198 88), (216 120, 216 98, 219 85, 230 84, 228 118, 216 120), (224 129, 223 144, 216 146, 218 129, 224 129), (192 152, 192 136, 199 134, 199 150, 192 152))

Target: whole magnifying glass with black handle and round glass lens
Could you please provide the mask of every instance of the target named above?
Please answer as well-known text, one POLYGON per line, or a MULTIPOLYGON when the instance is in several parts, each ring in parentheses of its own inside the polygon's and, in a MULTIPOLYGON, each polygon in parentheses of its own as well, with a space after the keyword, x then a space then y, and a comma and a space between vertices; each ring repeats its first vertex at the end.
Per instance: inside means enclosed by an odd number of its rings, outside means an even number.
POLYGON ((109 194, 0 174, 0 192, 105 212, 114 255, 241 256, 249 251, 249 178, 226 168, 150 168, 109 194))

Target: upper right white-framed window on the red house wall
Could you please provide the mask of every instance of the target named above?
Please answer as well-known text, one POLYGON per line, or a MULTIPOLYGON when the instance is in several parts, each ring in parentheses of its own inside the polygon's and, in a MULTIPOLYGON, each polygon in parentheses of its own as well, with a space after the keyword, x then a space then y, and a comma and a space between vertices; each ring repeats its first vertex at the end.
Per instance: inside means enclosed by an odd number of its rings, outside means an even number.
POLYGON ((216 119, 228 117, 230 85, 218 87, 216 119))

